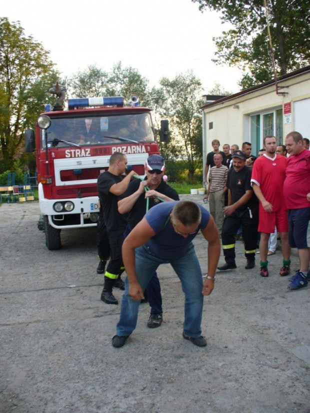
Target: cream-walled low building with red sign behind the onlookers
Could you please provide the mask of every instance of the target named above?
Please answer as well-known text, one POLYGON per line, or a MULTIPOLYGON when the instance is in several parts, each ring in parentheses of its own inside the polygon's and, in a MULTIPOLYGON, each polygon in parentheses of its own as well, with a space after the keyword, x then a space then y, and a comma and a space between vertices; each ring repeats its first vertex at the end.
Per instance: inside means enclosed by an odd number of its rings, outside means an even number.
POLYGON ((202 106, 203 159, 212 150, 211 141, 251 142, 252 154, 258 154, 267 134, 278 144, 296 130, 310 138, 310 66, 269 80, 258 86, 224 96, 202 106))

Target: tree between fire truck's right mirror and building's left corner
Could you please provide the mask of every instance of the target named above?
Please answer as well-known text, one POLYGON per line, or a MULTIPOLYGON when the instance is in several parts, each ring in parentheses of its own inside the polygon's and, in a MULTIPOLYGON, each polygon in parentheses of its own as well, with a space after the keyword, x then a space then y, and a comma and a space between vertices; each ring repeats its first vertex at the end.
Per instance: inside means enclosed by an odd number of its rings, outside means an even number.
POLYGON ((172 80, 162 77, 159 83, 164 92, 170 124, 183 145, 182 156, 188 169, 188 179, 192 182, 202 156, 201 82, 189 70, 177 74, 172 80))

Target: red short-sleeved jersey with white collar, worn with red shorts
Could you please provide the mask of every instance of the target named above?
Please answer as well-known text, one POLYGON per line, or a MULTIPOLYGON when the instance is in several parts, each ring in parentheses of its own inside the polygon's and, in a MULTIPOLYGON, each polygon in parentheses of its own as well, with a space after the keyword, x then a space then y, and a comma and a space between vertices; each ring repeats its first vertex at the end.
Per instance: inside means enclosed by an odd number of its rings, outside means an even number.
MULTIPOLYGON (((253 164, 251 182, 260 187, 264 198, 272 205, 272 212, 282 209, 283 206, 286 209, 283 195, 286 165, 285 156, 276 155, 270 158, 265 153, 253 164)), ((259 211, 264 211, 261 202, 259 202, 259 211)))

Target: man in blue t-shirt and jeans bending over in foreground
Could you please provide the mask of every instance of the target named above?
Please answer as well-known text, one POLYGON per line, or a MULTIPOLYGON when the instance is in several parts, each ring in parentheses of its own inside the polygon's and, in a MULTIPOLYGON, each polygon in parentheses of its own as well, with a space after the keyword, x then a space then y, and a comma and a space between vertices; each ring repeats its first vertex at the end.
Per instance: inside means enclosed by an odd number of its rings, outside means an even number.
POLYGON ((151 208, 122 246, 127 277, 112 345, 124 345, 135 329, 139 302, 153 272, 160 264, 170 263, 185 294, 183 337, 199 347, 205 346, 201 335, 203 295, 209 295, 214 287, 219 253, 216 226, 203 206, 191 201, 173 201, 151 208), (199 229, 208 241, 208 276, 204 281, 191 242, 199 229))

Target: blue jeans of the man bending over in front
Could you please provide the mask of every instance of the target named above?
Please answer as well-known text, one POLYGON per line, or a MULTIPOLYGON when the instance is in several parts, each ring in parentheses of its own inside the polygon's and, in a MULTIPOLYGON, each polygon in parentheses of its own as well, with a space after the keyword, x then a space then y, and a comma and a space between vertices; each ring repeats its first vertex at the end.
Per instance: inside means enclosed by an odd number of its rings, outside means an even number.
MULTIPOLYGON (((160 264, 170 263, 179 277, 185 294, 183 331, 190 337, 201 335, 203 307, 202 274, 194 246, 189 244, 187 252, 178 259, 161 259, 145 245, 135 250, 137 281, 144 290, 153 272, 160 264)), ((134 301, 128 294, 129 282, 125 280, 125 290, 121 299, 117 335, 130 335, 135 329, 140 301, 134 301)))

